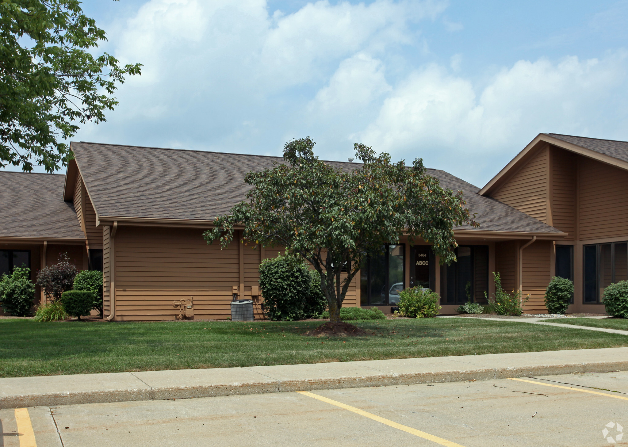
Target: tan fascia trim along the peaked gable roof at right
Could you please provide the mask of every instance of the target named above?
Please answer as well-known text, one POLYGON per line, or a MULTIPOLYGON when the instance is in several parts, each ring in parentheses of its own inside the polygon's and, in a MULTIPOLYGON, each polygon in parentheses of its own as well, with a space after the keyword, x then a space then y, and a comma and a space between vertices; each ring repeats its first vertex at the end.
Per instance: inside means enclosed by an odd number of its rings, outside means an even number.
POLYGON ((582 156, 592 158, 597 161, 601 161, 602 163, 610 164, 617 168, 628 171, 628 163, 622 161, 620 159, 611 157, 606 154, 601 154, 597 151, 592 151, 591 149, 583 148, 582 146, 578 146, 577 144, 568 143, 561 139, 555 138, 548 134, 538 134, 536 138, 534 138, 528 145, 517 154, 515 158, 511 160, 510 163, 506 164, 504 168, 497 173, 490 181, 487 183, 484 188, 478 191, 480 195, 490 195, 495 189, 501 186, 502 181, 506 180, 512 174, 516 173, 521 164, 526 160, 528 154, 531 155, 533 153, 533 149, 536 148, 539 143, 549 143, 553 146, 556 146, 561 149, 565 149, 566 151, 570 151, 576 154, 580 154, 582 156))

